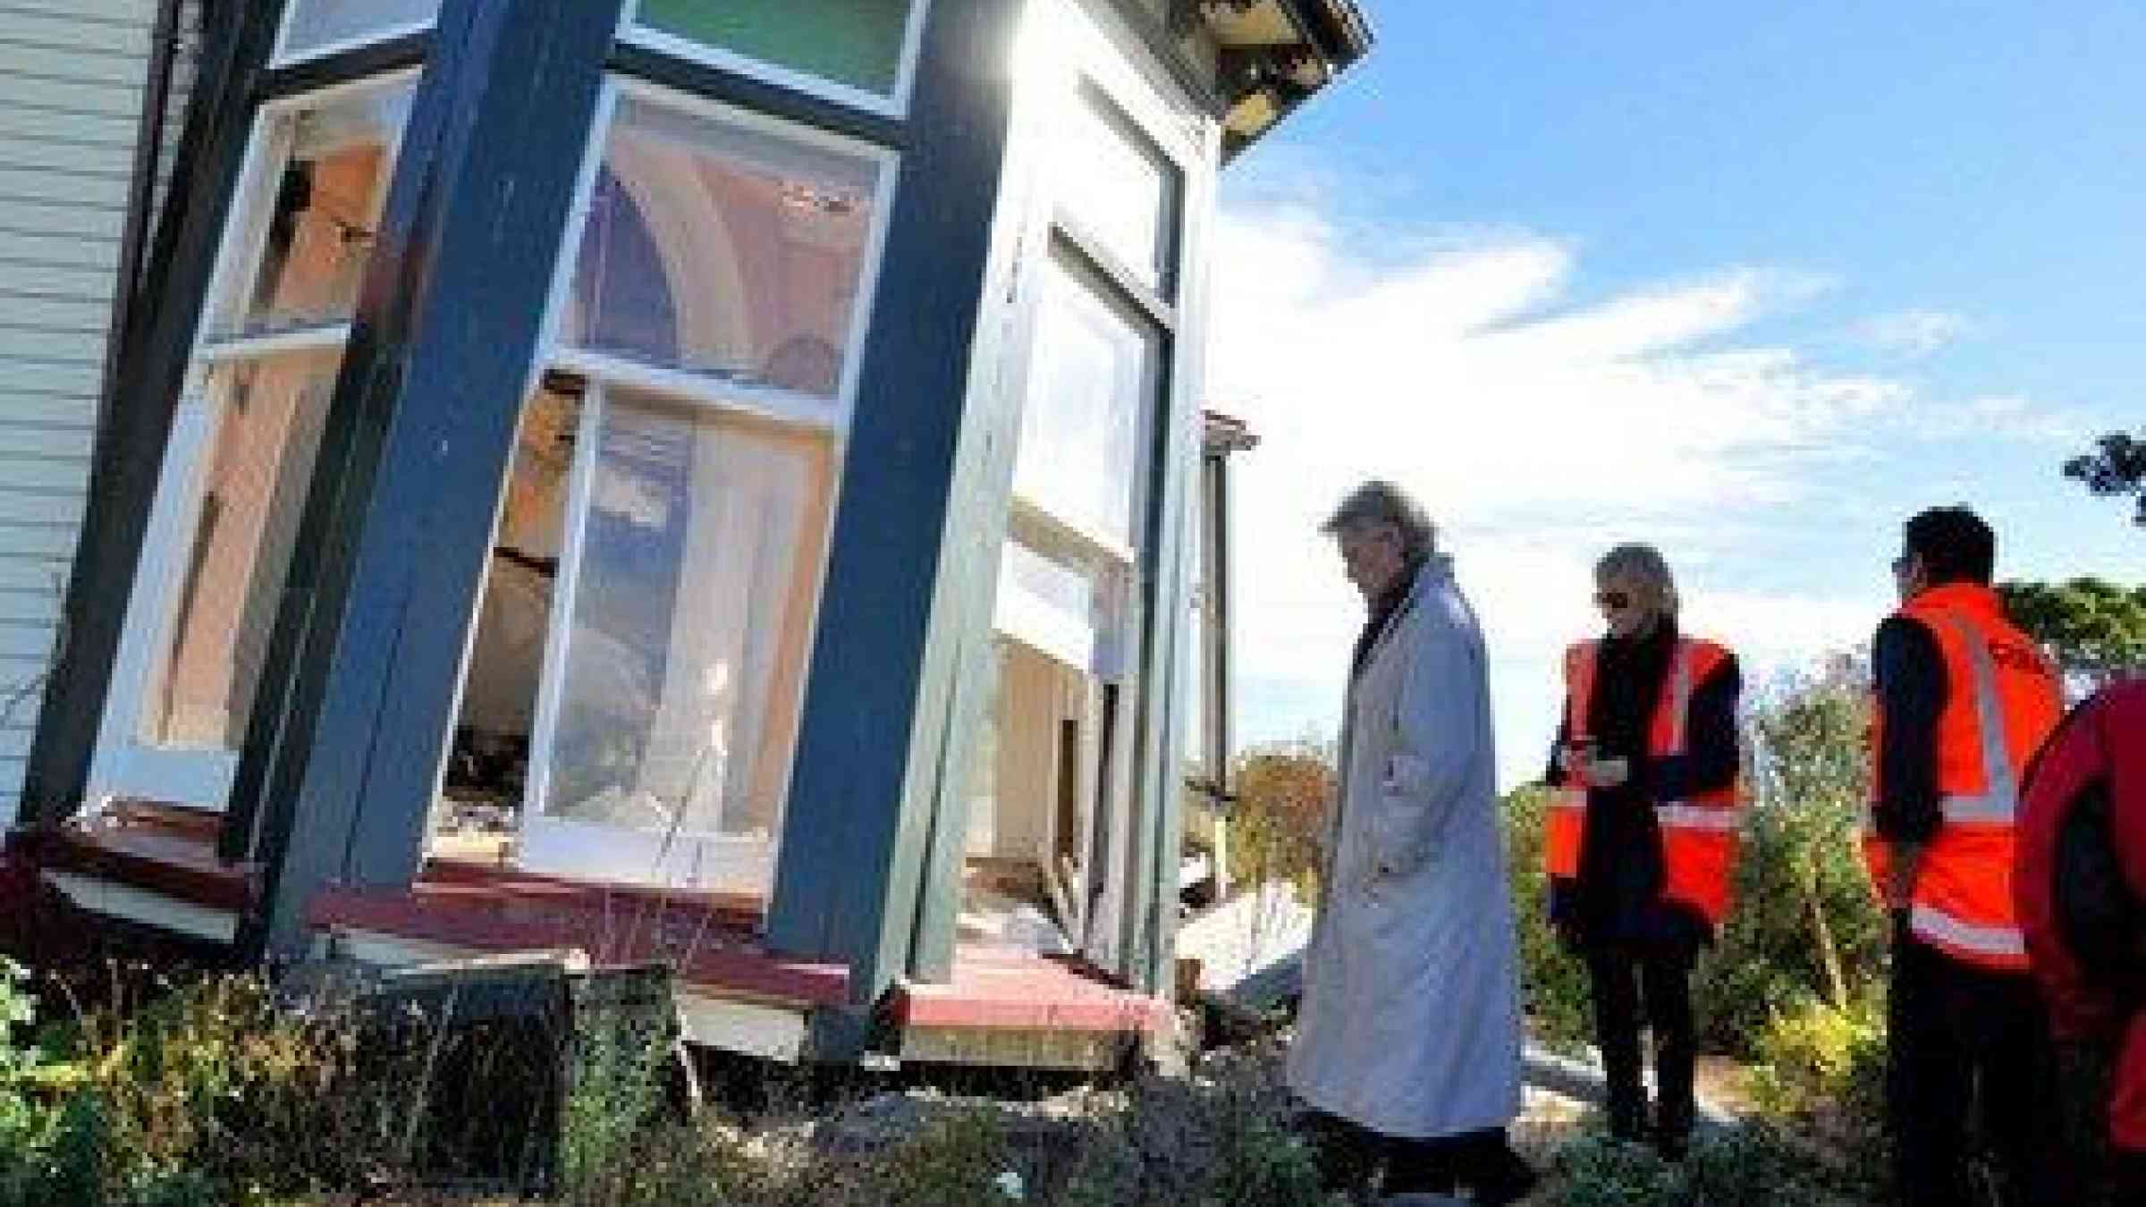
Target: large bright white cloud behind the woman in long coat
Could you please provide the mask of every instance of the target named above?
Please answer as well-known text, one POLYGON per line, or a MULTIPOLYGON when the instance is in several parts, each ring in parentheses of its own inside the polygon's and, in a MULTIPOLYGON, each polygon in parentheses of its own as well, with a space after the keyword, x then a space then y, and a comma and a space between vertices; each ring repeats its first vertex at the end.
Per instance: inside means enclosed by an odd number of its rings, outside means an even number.
MULTIPOLYGON (((1537 769, 1558 651, 1599 627, 1590 567, 1618 539, 1663 543, 1693 623, 1755 670, 1867 636, 1878 597, 1738 580, 1738 550, 1813 500, 1813 468, 1876 457, 1876 417, 1914 402, 1738 339, 1813 279, 1730 268, 1569 305, 1575 249, 1528 232, 1395 249, 1309 208, 1236 208, 1219 238, 1208 397, 1264 436, 1232 494, 1245 679, 1339 702, 1363 610, 1315 526, 1365 477, 1446 526, 1491 642, 1506 782, 1537 769)), ((1296 737, 1260 722, 1247 739, 1296 737)))

